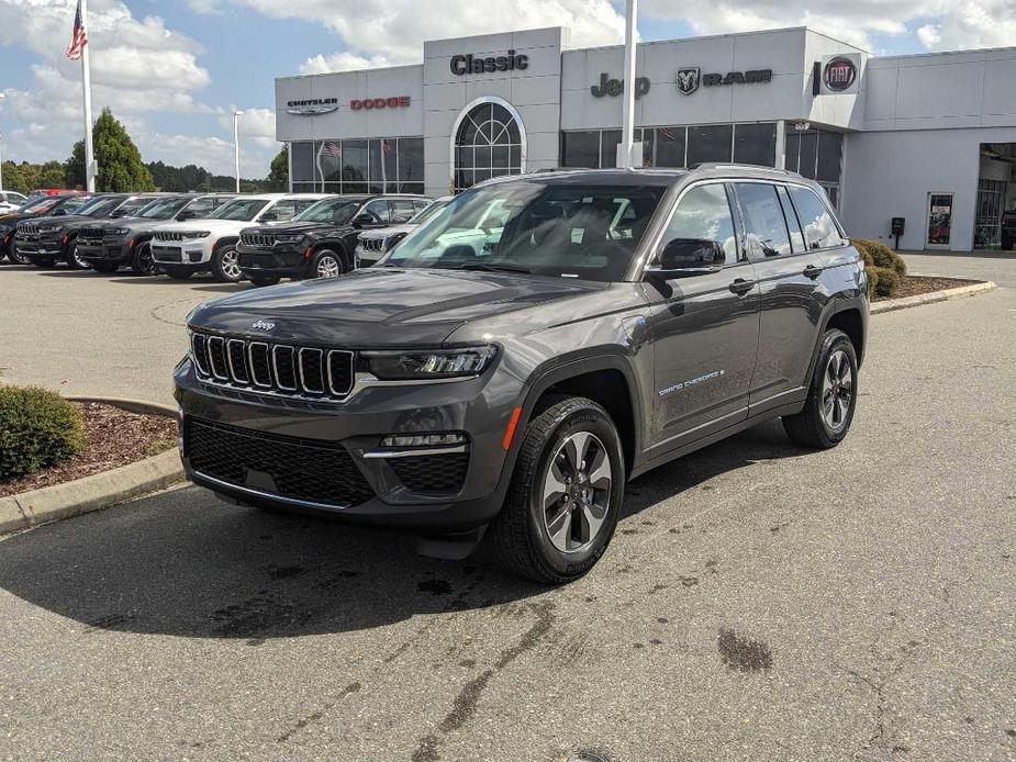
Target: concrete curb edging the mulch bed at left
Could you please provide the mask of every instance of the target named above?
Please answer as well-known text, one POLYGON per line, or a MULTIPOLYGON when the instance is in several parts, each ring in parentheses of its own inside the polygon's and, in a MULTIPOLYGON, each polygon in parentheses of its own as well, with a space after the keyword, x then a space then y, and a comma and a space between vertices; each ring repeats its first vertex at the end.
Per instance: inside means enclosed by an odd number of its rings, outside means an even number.
MULTIPOLYGON (((176 415, 176 408, 141 400, 71 396, 75 402, 101 402, 134 413, 176 415)), ((96 473, 72 482, 0 497, 0 535, 100 511, 183 481, 176 449, 136 463, 96 473)))

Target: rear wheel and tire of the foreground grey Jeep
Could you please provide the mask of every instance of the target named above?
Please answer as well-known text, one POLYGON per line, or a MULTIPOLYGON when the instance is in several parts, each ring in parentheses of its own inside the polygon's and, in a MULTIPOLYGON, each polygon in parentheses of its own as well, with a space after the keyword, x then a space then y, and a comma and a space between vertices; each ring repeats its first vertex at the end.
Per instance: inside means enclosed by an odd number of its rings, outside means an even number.
POLYGON ((857 352, 842 330, 827 330, 818 350, 804 410, 783 416, 783 428, 799 445, 826 450, 850 430, 857 407, 857 352))

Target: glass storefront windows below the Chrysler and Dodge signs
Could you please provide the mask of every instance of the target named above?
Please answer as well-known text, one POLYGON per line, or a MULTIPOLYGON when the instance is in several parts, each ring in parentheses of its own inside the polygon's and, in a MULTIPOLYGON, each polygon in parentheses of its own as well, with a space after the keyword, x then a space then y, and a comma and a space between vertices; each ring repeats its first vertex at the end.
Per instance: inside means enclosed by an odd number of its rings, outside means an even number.
POLYGON ((423 138, 297 141, 294 193, 423 193, 423 138))

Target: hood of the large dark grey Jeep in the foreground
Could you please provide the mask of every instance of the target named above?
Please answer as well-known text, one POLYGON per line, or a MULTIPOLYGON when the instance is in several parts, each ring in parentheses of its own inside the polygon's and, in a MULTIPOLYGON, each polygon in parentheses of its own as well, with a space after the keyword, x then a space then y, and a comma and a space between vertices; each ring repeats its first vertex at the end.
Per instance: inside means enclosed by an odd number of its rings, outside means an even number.
POLYGON ((501 272, 365 269, 205 302, 189 323, 241 336, 353 349, 434 346, 466 323, 584 295, 603 285, 501 272), (255 328, 258 322, 272 328, 255 328))

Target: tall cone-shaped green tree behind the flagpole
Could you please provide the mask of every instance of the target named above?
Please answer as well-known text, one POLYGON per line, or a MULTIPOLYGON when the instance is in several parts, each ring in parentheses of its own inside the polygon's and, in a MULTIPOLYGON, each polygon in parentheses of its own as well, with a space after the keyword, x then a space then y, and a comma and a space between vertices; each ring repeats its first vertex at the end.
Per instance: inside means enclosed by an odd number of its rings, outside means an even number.
MULTIPOLYGON (((149 191, 155 188, 152 173, 142 164, 141 152, 124 126, 113 116, 110 109, 103 109, 92 130, 96 146, 96 161, 99 175, 96 190, 99 191, 149 191)), ((85 144, 78 142, 64 165, 68 184, 85 184, 85 144)))

